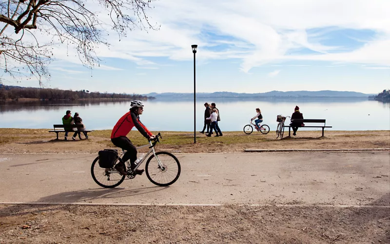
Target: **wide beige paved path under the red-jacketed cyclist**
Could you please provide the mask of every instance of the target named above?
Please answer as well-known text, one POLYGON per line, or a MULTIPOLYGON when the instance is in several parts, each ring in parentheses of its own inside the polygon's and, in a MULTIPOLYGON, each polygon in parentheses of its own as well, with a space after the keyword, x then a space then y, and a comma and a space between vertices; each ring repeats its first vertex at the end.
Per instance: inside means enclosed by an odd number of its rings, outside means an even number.
MULTIPOLYGON (((390 205, 390 153, 177 154, 176 183, 99 187, 96 155, 0 155, 0 202, 390 205)), ((141 166, 142 168, 142 166, 141 166)))

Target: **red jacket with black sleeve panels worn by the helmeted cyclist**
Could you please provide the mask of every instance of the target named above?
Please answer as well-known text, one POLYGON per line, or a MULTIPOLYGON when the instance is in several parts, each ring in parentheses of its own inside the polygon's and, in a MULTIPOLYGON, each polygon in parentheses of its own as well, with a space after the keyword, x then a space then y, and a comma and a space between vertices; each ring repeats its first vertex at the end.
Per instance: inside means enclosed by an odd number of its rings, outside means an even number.
POLYGON ((137 130, 148 140, 153 135, 152 132, 139 121, 138 114, 129 111, 118 120, 117 124, 115 124, 114 129, 111 132, 111 139, 127 136, 134 126, 136 126, 137 130))

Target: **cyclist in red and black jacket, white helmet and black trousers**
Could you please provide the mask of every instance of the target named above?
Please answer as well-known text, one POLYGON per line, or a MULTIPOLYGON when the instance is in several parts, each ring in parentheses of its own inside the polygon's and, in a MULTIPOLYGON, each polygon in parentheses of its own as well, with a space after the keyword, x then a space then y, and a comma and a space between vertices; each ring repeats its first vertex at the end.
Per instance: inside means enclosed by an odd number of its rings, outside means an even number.
MULTIPOLYGON (((115 168, 122 175, 126 175, 126 165, 124 162, 130 159, 131 169, 136 167, 137 160, 137 148, 131 143, 130 139, 127 138, 127 134, 131 131, 131 129, 136 126, 137 130, 149 141, 154 139, 155 136, 150 132, 145 125, 143 125, 139 121, 139 115, 143 112, 143 102, 141 101, 132 101, 130 105, 130 111, 123 115, 114 126, 113 131, 111 132, 111 142, 114 143, 117 147, 120 147, 127 152, 122 157, 122 162, 117 163, 115 168)), ((143 173, 143 169, 137 169, 135 172, 138 175, 143 173)))

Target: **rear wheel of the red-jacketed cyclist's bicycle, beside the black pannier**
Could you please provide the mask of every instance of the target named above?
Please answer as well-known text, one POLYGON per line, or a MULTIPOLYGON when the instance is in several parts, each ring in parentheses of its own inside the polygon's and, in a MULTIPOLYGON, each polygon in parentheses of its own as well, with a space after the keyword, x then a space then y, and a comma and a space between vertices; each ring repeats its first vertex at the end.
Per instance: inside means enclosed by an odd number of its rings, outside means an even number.
POLYGON ((99 166, 99 157, 97 157, 91 166, 91 175, 94 181, 104 188, 114 188, 120 185, 124 179, 124 175, 119 173, 110 173, 109 171, 116 171, 116 169, 105 169, 99 166))

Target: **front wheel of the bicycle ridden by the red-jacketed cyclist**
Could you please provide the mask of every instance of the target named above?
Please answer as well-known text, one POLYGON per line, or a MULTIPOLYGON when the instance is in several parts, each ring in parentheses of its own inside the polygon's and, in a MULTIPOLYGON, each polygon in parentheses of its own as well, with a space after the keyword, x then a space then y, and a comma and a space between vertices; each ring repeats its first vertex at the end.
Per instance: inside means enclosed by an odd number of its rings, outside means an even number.
POLYGON ((180 163, 173 155, 169 152, 157 152, 156 157, 152 155, 145 165, 146 176, 149 181, 159 186, 168 186, 177 181, 180 176, 180 163), (162 164, 158 164, 158 160, 162 164))

